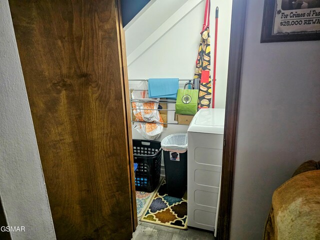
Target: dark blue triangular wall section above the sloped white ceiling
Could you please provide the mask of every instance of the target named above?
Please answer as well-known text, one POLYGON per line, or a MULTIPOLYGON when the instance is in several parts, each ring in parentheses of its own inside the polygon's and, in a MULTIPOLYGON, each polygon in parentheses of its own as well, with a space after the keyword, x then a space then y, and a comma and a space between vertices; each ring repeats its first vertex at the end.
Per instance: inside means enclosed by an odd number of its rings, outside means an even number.
POLYGON ((125 26, 150 0, 121 0, 122 25, 125 26))

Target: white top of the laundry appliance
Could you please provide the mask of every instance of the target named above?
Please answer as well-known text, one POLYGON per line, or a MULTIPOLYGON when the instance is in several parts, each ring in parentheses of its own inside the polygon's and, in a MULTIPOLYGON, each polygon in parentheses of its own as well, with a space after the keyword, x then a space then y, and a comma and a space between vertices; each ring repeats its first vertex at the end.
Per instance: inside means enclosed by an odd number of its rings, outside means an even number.
POLYGON ((193 117, 188 132, 223 134, 224 108, 201 108, 193 117))

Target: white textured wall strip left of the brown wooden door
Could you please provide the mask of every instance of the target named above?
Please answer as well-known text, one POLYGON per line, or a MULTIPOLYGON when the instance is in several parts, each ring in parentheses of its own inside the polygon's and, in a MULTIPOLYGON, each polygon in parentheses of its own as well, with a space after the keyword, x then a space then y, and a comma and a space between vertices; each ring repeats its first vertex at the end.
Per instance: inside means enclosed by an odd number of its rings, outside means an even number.
POLYGON ((0 0, 0 197, 17 239, 55 239, 7 0, 0 0))

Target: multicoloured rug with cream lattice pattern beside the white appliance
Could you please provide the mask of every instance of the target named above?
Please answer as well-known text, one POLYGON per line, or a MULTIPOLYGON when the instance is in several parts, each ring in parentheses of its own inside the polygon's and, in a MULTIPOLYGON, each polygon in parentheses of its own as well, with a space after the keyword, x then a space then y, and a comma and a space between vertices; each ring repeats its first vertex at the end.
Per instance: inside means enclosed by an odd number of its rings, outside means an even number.
POLYGON ((165 179, 159 189, 152 197, 152 201, 147 206, 140 221, 154 224, 175 227, 179 229, 187 228, 187 196, 186 192, 182 198, 168 196, 166 194, 165 179))

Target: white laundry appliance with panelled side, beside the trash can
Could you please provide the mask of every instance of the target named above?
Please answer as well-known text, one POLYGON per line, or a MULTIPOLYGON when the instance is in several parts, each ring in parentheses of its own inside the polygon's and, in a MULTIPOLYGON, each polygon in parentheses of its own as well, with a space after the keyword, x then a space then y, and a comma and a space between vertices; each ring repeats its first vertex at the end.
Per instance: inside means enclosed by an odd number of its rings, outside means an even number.
POLYGON ((216 228, 220 197, 224 111, 202 108, 188 128, 188 225, 211 231, 216 228))

